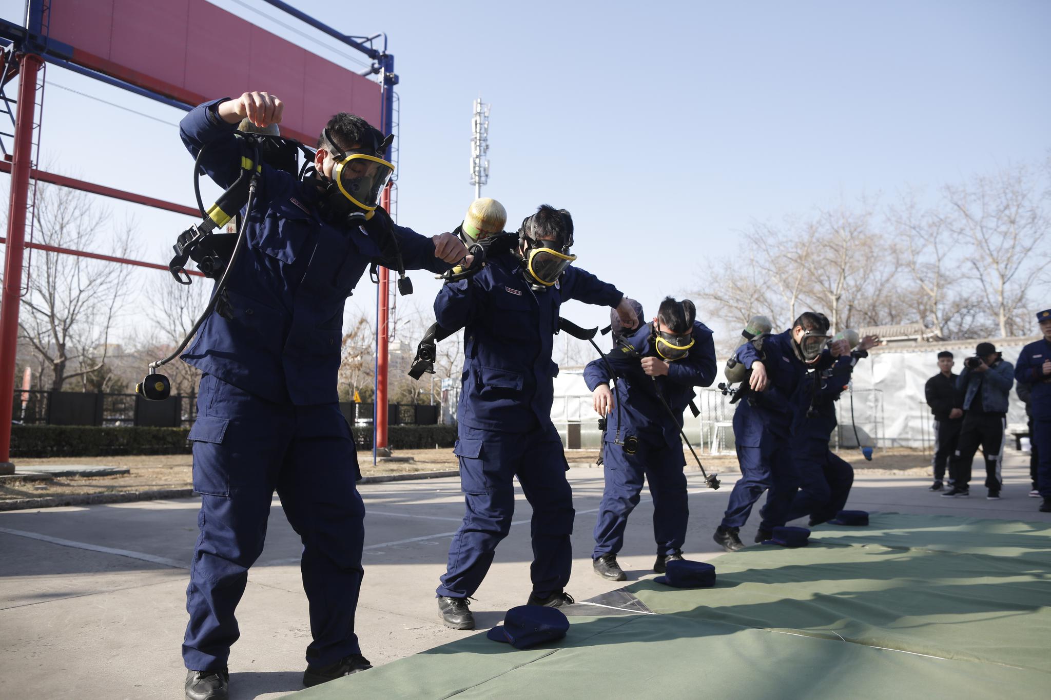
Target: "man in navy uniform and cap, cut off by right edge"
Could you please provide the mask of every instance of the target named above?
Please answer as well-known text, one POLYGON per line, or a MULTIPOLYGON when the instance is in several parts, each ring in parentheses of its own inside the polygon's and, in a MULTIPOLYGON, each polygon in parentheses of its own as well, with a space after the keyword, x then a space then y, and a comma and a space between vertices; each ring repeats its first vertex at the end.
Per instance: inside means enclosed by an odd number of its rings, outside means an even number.
POLYGON ((1043 338, 1029 343, 1018 354, 1014 378, 1029 384, 1029 406, 1033 428, 1029 436, 1036 449, 1036 491, 1040 511, 1051 512, 1051 309, 1036 314, 1043 338))

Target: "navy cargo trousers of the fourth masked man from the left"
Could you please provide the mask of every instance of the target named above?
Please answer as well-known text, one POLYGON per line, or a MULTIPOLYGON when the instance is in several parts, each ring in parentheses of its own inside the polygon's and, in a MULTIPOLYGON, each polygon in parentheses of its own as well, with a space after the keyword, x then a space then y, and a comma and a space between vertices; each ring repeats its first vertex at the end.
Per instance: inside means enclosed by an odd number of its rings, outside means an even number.
POLYGON ((764 433, 759 442, 759 446, 736 446, 741 478, 730 491, 722 519, 724 528, 742 527, 751 513, 751 507, 766 490, 766 505, 760 511, 760 529, 772 530, 788 519, 788 508, 799 488, 788 441, 764 433))

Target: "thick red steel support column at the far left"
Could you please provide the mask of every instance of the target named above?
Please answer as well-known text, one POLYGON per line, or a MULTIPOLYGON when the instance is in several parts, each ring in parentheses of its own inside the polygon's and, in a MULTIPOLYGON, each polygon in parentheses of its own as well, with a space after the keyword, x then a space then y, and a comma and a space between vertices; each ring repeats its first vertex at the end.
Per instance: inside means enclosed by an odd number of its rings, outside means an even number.
POLYGON ((18 304, 22 295, 22 251, 29 169, 33 166, 33 113, 37 102, 37 71, 43 59, 18 57, 18 114, 15 153, 11 167, 11 207, 7 211, 7 250, 4 256, 3 298, 0 300, 0 474, 15 473, 11 462, 11 418, 15 405, 15 359, 18 353, 18 304))

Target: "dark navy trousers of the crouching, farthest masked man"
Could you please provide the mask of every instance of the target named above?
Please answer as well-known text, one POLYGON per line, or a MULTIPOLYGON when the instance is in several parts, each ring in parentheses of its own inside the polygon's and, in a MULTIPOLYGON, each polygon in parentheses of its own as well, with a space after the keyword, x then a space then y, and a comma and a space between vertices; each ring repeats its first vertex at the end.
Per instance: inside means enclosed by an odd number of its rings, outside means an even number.
POLYGON ((836 517, 843 510, 853 485, 853 467, 828 450, 828 443, 808 441, 794 452, 799 491, 787 519, 810 516, 812 525, 836 517))

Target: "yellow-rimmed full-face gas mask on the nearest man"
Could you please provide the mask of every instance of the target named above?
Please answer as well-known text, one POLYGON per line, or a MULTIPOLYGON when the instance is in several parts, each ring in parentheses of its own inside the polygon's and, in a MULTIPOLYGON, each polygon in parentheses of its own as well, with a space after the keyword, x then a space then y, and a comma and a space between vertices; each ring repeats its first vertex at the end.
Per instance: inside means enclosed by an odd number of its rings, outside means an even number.
POLYGON ((331 224, 352 224, 353 219, 368 220, 379 206, 379 197, 394 174, 394 164, 379 157, 387 152, 394 139, 391 134, 371 146, 345 151, 329 133, 323 132, 329 152, 335 161, 332 176, 317 173, 318 187, 323 190, 320 209, 331 224))

